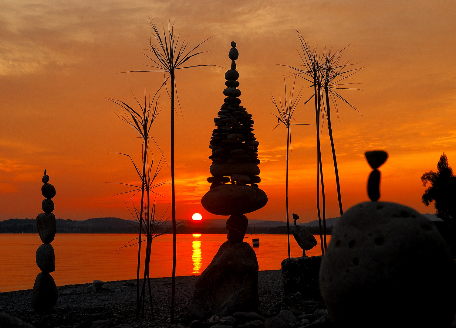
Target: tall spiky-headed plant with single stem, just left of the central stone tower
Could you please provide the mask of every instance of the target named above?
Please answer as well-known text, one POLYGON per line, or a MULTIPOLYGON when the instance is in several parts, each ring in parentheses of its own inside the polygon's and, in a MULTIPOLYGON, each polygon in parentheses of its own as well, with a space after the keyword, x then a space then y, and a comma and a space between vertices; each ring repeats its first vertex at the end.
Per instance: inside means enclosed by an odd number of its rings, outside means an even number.
MULTIPOLYGON (((174 323, 174 307, 175 307, 175 288, 176 288, 176 198, 175 198, 175 183, 174 183, 174 112, 175 112, 175 93, 176 92, 176 77, 175 72, 178 69, 193 68, 211 65, 192 65, 184 66, 184 64, 192 57, 195 57, 203 52, 196 52, 196 49, 201 46, 208 39, 199 43, 191 50, 187 50, 187 37, 182 41, 180 33, 174 33, 174 26, 168 24, 168 30, 163 26, 163 35, 161 35, 154 21, 150 21, 153 29, 153 39, 149 39, 150 48, 148 51, 153 53, 153 57, 145 54, 153 64, 146 65, 151 69, 144 71, 130 71, 130 72, 163 72, 168 74, 165 76, 165 81, 162 85, 166 86, 166 82, 170 81, 171 94, 168 93, 171 99, 171 215, 172 215, 172 234, 173 234, 173 264, 172 264, 172 277, 171 277, 171 323, 174 323), (157 44, 155 44, 155 42, 157 44)), ((126 73, 126 72, 125 72, 126 73)), ((168 89, 166 89, 168 90, 168 89)), ((178 99, 179 101, 179 99, 178 99)))

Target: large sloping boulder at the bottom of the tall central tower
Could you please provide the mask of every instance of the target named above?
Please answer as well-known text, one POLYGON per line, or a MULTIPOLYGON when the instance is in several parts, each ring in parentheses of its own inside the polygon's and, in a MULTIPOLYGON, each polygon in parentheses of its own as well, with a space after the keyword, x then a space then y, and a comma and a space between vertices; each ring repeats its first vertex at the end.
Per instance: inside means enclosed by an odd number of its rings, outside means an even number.
POLYGON ((258 261, 248 243, 223 243, 199 276, 188 312, 192 318, 257 310, 258 261))

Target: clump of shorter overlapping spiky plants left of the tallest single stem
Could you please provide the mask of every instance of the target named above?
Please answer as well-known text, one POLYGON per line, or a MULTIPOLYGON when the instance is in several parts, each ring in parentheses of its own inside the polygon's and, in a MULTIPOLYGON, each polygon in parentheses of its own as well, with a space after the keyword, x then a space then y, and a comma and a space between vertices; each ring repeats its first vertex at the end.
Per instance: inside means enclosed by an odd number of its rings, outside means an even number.
MULTIPOLYGON (((158 92, 158 91, 157 91, 158 92)), ((154 188, 160 187, 163 185, 165 182, 160 182, 160 183, 155 183, 155 178, 158 176, 158 173, 160 172, 161 168, 163 167, 164 164, 164 157, 163 153, 161 152, 161 157, 158 162, 158 164, 155 166, 155 170, 153 169, 154 167, 154 156, 151 153, 150 150, 150 141, 149 139, 152 139, 152 136, 150 135, 150 129, 152 127, 152 123, 156 119, 157 115, 160 113, 160 110, 158 109, 158 100, 160 96, 157 97, 157 94, 155 93, 154 98, 152 100, 149 99, 149 102, 147 102, 147 99, 145 97, 144 100, 144 106, 141 106, 141 104, 136 100, 136 102, 140 106, 140 111, 136 111, 132 107, 130 107, 128 104, 124 103, 123 101, 119 101, 116 99, 109 99, 115 104, 118 104, 123 108, 123 111, 119 111, 119 118, 123 120, 124 122, 128 123, 133 130, 140 136, 140 139, 142 140, 142 151, 141 151, 141 156, 142 156, 142 165, 141 167, 138 167, 135 164, 135 161, 131 158, 130 155, 127 154, 122 154, 124 156, 127 156, 130 158, 130 161, 133 164, 133 167, 135 168, 135 172, 138 174, 138 177, 141 180, 141 185, 133 185, 133 184, 128 184, 128 183, 121 183, 121 182, 114 182, 118 184, 122 184, 125 186, 133 187, 132 190, 126 191, 124 193, 119 193, 119 194, 126 194, 126 193, 132 193, 132 196, 130 200, 139 192, 141 192, 141 201, 140 201, 140 207, 139 209, 137 206, 134 205, 135 208, 135 214, 134 217, 138 221, 138 226, 139 226, 139 237, 138 237, 138 265, 137 265, 137 276, 136 276, 136 316, 139 317, 140 313, 140 308, 141 308, 141 298, 140 298, 140 293, 139 293, 139 286, 140 286, 140 260, 141 260, 141 237, 143 234, 143 222, 145 223, 145 234, 146 234, 146 263, 147 266, 145 266, 145 276, 146 276, 146 271, 148 275, 148 258, 150 261, 150 234, 148 234, 148 230, 152 229, 152 231, 156 231, 154 227, 155 225, 161 226, 160 222, 155 221, 155 200, 154 200, 154 217, 151 217, 151 212, 150 212, 150 193, 155 193, 153 191, 154 188), (149 154, 152 155, 151 161, 149 161, 149 154), (163 161, 162 161, 163 160, 163 161), (145 198, 146 196, 146 198, 145 198), (149 257, 147 257, 149 253, 149 257)), ((154 141, 155 143, 155 141, 154 141)), ((156 145, 156 143, 155 143, 156 145)), ((157 145, 158 147, 158 145, 157 145)), ((130 211, 131 213, 131 211, 130 211)), ((132 213, 133 214, 133 213, 132 213)), ((155 238, 155 237, 154 237, 155 238)), ((145 283, 145 282, 144 282, 145 283)), ((143 283, 143 285, 144 285, 143 283)), ((152 300, 150 300, 152 302, 152 300)), ((151 311, 153 313, 153 307, 151 303, 151 311)), ((143 307, 143 312, 144 312, 144 307, 143 307)))

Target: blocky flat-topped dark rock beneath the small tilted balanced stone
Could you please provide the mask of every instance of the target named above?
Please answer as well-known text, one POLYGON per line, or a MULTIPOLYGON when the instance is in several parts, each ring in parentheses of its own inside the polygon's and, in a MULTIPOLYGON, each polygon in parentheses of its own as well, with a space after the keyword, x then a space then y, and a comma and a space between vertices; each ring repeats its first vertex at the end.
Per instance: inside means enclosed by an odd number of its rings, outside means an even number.
POLYGON ((318 286, 318 271, 321 256, 303 256, 291 258, 291 281, 288 268, 288 258, 282 261, 282 277, 285 294, 300 292, 308 299, 320 297, 318 286))

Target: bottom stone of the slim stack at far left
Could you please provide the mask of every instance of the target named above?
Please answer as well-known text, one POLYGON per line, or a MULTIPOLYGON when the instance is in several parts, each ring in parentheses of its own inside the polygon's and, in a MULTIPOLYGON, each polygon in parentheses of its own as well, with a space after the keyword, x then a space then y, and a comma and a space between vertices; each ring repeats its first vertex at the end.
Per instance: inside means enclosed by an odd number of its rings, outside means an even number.
POLYGON ((49 273, 40 272, 36 276, 31 292, 31 304, 35 312, 48 312, 56 305, 58 298, 57 286, 49 273))

